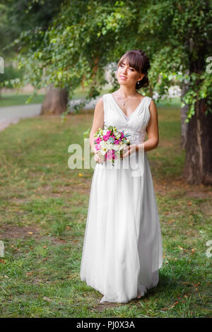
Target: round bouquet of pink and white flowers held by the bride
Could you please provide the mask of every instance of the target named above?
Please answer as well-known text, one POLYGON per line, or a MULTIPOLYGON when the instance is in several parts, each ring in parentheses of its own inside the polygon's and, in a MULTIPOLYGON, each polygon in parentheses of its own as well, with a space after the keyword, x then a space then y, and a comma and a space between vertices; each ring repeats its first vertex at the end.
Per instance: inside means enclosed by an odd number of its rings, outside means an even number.
POLYGON ((130 144, 128 136, 129 134, 124 134, 124 131, 117 131, 116 126, 99 128, 94 135, 96 139, 93 143, 98 158, 103 162, 110 160, 114 166, 114 160, 123 158, 123 150, 130 144))

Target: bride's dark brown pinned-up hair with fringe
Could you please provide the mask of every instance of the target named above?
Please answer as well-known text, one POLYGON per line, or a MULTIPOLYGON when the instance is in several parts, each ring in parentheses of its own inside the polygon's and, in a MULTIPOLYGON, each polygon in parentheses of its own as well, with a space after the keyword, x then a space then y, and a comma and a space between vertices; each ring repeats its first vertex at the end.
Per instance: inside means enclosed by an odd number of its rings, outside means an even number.
POLYGON ((131 49, 131 51, 127 51, 124 55, 122 55, 121 59, 119 59, 118 67, 125 59, 129 66, 136 69, 136 71, 139 73, 145 73, 142 80, 139 81, 139 83, 136 83, 136 90, 139 90, 140 88, 147 88, 149 85, 148 69, 151 68, 151 65, 148 57, 146 56, 146 52, 142 51, 142 49, 131 49))

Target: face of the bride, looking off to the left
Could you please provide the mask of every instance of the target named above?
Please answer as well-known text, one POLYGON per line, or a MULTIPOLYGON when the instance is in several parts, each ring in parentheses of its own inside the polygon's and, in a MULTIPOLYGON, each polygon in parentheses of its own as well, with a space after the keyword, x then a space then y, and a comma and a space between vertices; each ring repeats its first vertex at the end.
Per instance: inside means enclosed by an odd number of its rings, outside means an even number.
POLYGON ((133 67, 127 64, 126 60, 121 62, 117 70, 117 80, 122 85, 136 85, 137 81, 140 81, 144 76, 133 67))

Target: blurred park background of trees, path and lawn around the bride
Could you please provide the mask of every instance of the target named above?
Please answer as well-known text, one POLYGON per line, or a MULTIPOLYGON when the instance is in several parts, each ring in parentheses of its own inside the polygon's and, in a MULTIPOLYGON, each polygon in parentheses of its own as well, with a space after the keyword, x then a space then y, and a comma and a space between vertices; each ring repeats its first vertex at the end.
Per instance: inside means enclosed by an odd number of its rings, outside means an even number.
POLYGON ((211 1, 1 0, 0 15, 1 316, 210 316, 211 1), (130 49, 151 62, 164 264, 142 304, 101 307, 78 275, 93 169, 82 154, 70 170, 68 148, 130 49))

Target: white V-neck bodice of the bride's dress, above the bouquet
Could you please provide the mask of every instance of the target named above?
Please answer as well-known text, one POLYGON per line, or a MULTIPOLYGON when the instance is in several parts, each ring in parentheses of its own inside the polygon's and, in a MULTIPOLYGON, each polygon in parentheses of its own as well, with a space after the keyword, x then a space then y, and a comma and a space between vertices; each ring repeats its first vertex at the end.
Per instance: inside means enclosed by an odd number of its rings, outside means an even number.
POLYGON ((139 106, 129 117, 120 109, 110 93, 103 95, 104 102, 104 129, 106 126, 116 126, 117 130, 130 134, 131 143, 142 143, 146 137, 146 126, 150 119, 149 105, 151 97, 143 97, 139 106))

